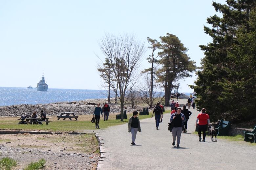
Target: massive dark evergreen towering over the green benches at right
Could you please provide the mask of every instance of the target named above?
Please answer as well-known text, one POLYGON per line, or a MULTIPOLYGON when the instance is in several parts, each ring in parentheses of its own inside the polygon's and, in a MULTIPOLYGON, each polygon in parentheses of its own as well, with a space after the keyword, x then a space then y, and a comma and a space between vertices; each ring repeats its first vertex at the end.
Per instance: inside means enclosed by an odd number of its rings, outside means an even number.
MULTIPOLYGON (((201 62, 202 70, 197 72, 196 85, 191 86, 199 98, 196 101, 197 108, 199 110, 206 108, 211 119, 215 121, 230 115, 243 114, 245 105, 249 104, 249 101, 252 102, 246 97, 250 95, 248 90, 253 92, 255 88, 255 72, 253 67, 249 66, 253 62, 245 63, 248 53, 252 56, 255 54, 255 51, 246 49, 249 46, 245 46, 250 40, 254 43, 252 39, 247 39, 249 35, 246 36, 246 34, 255 31, 248 22, 250 12, 255 8, 255 1, 227 0, 226 2, 227 5, 216 2, 212 4, 216 11, 223 14, 223 17, 214 15, 207 18, 207 23, 213 28, 204 27, 204 31, 212 37, 213 41, 207 45, 200 45, 205 57, 201 62), (254 83, 251 81, 253 76, 247 74, 248 71, 254 73, 254 83)), ((252 98, 255 97, 255 90, 253 93, 252 98)), ((253 101, 255 109, 255 100, 253 101)))

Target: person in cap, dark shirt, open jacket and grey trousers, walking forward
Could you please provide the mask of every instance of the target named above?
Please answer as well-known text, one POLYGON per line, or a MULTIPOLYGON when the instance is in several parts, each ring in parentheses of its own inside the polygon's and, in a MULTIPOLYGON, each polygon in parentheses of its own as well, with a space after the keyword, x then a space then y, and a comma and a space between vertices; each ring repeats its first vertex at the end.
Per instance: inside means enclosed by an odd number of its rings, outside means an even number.
POLYGON ((186 121, 184 114, 181 113, 181 108, 177 108, 177 112, 171 115, 170 121, 174 121, 174 127, 172 128, 172 145, 175 145, 176 137, 177 137, 177 147, 180 147, 181 141, 181 132, 183 123, 186 121))

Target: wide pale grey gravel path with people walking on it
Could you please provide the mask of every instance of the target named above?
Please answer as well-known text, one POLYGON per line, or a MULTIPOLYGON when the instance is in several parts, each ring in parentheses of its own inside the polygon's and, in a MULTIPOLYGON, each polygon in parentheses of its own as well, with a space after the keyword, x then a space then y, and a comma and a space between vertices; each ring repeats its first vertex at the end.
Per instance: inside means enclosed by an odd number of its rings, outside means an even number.
POLYGON ((104 139, 107 153, 103 169, 255 169, 256 146, 244 142, 218 139, 199 142, 195 131, 198 112, 190 109, 188 133, 181 134, 180 148, 172 146, 172 133, 167 130, 170 114, 164 114, 163 123, 156 130, 155 119, 141 120, 141 130, 131 145, 128 125, 110 127, 100 136, 104 139))

